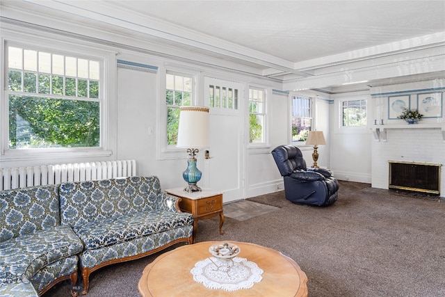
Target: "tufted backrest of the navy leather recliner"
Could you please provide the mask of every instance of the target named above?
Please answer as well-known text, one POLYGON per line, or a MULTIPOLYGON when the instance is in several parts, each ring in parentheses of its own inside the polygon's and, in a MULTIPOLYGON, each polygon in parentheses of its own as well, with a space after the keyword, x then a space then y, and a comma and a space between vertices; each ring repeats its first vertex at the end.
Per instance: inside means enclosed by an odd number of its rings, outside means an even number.
POLYGON ((275 147, 272 151, 273 159, 277 163, 280 174, 284 176, 291 175, 291 173, 298 170, 306 170, 306 162, 303 159, 303 154, 295 145, 280 145, 275 147))

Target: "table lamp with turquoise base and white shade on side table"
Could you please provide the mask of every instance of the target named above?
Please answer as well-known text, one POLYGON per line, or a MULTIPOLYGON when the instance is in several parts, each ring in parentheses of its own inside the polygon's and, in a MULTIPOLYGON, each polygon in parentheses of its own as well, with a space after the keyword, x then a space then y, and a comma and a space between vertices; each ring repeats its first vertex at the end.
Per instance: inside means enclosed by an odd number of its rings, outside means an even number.
POLYGON ((184 191, 189 193, 201 191, 196 185, 202 172, 196 167, 198 148, 209 147, 209 109, 200 106, 183 106, 179 112, 179 129, 177 147, 186 147, 188 167, 182 177, 188 183, 184 191))

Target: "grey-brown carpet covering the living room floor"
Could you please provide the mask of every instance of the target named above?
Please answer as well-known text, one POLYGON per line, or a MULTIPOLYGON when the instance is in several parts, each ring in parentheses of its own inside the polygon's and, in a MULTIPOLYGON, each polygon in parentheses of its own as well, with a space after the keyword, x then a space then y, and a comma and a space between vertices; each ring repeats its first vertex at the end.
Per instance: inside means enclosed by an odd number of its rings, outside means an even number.
MULTIPOLYGON (((341 182, 330 207, 293 204, 282 191, 250 198, 277 209, 242 221, 227 217, 224 235, 218 217, 200 220, 197 241, 247 241, 279 250, 307 274, 310 297, 445 296, 444 201, 373 190, 341 182)), ((88 296, 139 296, 140 275, 155 257, 95 271, 88 296)), ((67 282, 44 296, 69 296, 67 282)))

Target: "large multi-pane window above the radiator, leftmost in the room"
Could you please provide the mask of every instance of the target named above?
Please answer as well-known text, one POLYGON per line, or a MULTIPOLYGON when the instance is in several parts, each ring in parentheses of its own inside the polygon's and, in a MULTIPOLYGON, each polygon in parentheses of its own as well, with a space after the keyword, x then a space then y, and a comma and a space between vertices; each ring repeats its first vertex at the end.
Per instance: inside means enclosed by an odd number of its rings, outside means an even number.
POLYGON ((101 146, 103 61, 6 46, 8 149, 101 146))

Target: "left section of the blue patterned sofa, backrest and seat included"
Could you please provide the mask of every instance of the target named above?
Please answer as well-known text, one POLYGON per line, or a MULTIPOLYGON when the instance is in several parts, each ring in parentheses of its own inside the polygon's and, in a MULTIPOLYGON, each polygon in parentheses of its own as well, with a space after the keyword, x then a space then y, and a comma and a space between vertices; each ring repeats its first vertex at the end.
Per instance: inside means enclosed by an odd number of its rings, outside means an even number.
POLYGON ((76 283, 83 243, 60 225, 58 186, 0 191, 0 222, 0 296, 38 296, 62 280, 76 283))

